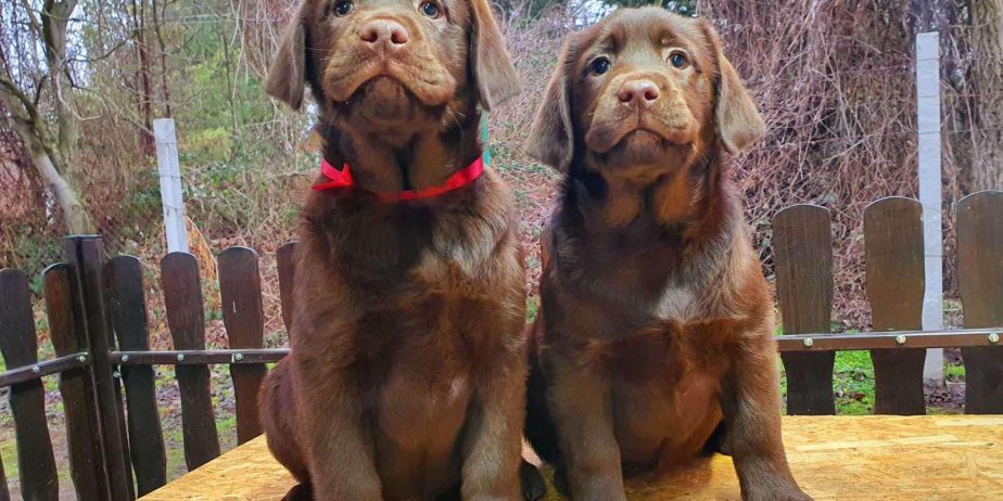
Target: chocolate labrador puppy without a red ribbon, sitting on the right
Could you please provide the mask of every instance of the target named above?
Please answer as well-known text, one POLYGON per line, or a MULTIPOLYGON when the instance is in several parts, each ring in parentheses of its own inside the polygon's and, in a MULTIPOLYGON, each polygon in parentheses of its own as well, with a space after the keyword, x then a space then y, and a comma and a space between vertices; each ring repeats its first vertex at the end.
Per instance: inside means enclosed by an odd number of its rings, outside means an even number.
POLYGON ((744 499, 810 499, 780 441, 773 301, 726 162, 763 132, 706 20, 623 9, 569 36, 529 142, 567 176, 526 435, 572 499, 623 500, 624 473, 708 445, 734 458, 744 499))

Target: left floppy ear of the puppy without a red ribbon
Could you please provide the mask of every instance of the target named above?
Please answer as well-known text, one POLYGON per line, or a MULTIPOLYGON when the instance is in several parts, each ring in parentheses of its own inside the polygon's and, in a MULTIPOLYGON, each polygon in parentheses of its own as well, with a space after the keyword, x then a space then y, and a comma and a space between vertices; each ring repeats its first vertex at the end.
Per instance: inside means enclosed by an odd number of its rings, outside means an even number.
POLYGON ((564 42, 557 60, 547 93, 533 120, 525 152, 533 158, 566 172, 574 154, 574 129, 571 121, 571 91, 568 74, 574 64, 571 41, 564 42))

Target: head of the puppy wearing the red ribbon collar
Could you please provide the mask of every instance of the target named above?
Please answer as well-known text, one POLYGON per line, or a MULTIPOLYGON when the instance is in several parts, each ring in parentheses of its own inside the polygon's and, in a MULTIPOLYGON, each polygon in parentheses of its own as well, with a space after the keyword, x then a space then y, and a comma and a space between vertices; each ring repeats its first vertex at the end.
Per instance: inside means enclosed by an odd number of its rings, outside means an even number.
POLYGON ((303 0, 265 88, 297 110, 306 82, 327 119, 372 130, 518 91, 487 0, 303 0))

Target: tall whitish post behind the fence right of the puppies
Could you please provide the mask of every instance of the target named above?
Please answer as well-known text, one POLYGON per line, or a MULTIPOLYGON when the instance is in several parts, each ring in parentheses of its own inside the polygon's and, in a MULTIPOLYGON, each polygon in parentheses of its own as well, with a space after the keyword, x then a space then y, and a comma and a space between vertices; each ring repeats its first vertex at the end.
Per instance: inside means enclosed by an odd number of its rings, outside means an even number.
MULTIPOLYGON (((916 113, 919 125, 919 203, 926 292, 923 330, 943 329, 943 227, 940 167, 940 34, 916 36, 916 113)), ((927 383, 943 385, 943 350, 928 349, 923 371, 927 383)))

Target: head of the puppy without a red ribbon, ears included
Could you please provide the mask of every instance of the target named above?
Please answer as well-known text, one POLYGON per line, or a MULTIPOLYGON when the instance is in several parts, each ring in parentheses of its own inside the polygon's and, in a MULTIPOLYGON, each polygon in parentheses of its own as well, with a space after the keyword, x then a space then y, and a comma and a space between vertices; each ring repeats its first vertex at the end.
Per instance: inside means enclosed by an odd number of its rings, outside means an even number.
POLYGON ((528 151, 561 170, 583 160, 648 177, 763 133, 710 23, 621 9, 568 37, 528 151))

